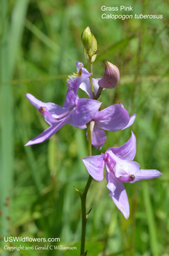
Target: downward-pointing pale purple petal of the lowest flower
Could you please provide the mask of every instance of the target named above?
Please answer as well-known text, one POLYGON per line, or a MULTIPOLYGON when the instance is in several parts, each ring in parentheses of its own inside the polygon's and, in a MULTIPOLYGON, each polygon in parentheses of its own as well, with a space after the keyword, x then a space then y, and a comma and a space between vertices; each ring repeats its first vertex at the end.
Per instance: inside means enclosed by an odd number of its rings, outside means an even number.
POLYGON ((107 188, 110 190, 109 196, 114 200, 114 204, 122 212, 126 220, 129 218, 129 202, 126 189, 121 181, 117 180, 110 172, 107 175, 108 184, 107 188))

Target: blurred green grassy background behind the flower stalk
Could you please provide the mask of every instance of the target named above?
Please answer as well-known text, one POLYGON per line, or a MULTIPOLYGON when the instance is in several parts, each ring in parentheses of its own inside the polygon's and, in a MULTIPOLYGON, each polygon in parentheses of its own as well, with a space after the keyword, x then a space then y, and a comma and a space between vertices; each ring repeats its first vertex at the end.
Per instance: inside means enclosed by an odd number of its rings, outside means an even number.
MULTIPOLYGON (((168 0, 1 0, 1 255, 80 254, 80 198, 73 186, 83 190, 88 177, 80 159, 87 156, 86 131, 64 125, 50 140, 24 147, 48 127, 25 93, 63 104, 66 78, 75 72, 75 61, 87 67, 80 41, 87 26, 98 40, 94 77, 103 75, 107 60, 121 72, 119 86, 102 93, 103 107, 122 102, 129 115, 137 114, 132 128, 107 132, 101 152, 125 143, 132 129, 137 138, 135 160, 141 168, 163 173, 159 179, 125 184, 128 221, 108 196, 105 180, 92 182, 87 196, 87 209, 92 207, 87 255, 169 255, 168 4, 168 0), (103 5, 131 5, 132 14, 162 14, 163 19, 101 19, 103 5), (4 236, 59 237, 61 242, 4 243, 4 236), (62 244, 77 246, 77 251, 8 252, 5 244, 62 244)), ((99 152, 94 149, 93 154, 99 152)))

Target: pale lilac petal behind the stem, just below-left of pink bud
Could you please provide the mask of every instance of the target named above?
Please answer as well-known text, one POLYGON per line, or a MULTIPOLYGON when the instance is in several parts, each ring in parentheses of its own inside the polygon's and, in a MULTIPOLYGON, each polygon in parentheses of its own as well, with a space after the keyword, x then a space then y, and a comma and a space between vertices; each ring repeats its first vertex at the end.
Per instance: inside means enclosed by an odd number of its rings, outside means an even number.
MULTIPOLYGON (((98 88, 99 88, 99 81, 100 78, 92 78, 92 84, 93 84, 93 88, 94 88, 94 94, 96 95, 96 93, 98 92, 98 88)), ((87 78, 83 83, 80 84, 80 89, 82 89, 85 93, 87 93, 87 95, 89 96, 90 99, 92 98, 92 90, 91 90, 91 82, 89 80, 89 78, 87 78)))

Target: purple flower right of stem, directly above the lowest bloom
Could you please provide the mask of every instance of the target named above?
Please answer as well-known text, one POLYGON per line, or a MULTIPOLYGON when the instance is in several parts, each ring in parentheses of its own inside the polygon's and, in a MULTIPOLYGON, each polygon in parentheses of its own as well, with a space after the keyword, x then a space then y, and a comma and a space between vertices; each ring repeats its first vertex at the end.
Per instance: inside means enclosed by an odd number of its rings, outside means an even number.
POLYGON ((136 114, 129 117, 122 104, 114 104, 98 111, 91 122, 92 145, 100 150, 107 140, 103 129, 112 132, 124 130, 133 124, 135 117, 136 114))

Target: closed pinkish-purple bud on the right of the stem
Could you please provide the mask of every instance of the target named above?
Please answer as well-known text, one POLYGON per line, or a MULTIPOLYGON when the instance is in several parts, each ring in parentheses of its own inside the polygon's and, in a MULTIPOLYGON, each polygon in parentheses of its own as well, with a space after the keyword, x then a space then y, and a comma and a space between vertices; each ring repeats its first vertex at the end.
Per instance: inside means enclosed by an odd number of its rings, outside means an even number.
POLYGON ((119 79, 119 68, 107 61, 103 77, 98 81, 99 86, 108 89, 115 88, 119 83, 119 79))

